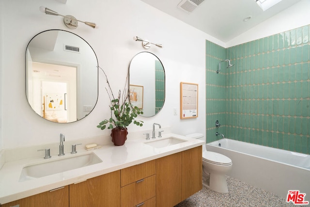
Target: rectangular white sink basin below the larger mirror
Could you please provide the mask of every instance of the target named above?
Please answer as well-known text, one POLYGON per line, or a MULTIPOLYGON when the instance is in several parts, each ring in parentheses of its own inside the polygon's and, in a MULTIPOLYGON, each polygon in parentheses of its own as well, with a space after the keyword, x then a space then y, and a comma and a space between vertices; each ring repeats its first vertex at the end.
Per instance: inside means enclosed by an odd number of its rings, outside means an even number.
POLYGON ((100 158, 98 158, 93 153, 89 153, 85 155, 33 164, 23 167, 19 177, 19 182, 44 177, 47 175, 62 173, 65 171, 78 169, 80 167, 86 167, 100 162, 102 162, 100 158))

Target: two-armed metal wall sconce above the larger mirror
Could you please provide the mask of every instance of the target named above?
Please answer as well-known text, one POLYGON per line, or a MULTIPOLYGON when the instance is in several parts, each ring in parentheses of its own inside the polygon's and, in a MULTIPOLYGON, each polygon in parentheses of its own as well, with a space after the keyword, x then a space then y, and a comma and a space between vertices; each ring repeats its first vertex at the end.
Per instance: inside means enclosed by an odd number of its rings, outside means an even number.
MULTIPOLYGON (((63 15, 58 14, 57 12, 55 12, 51 9, 48 9, 47 7, 44 7, 44 6, 40 6, 40 11, 47 14, 47 15, 63 16, 63 15)), ((78 27, 78 22, 83 22, 84 24, 91 26, 92 28, 98 28, 98 26, 93 22, 80 21, 80 20, 76 19, 76 17, 71 16, 71 15, 63 16, 63 23, 69 29, 76 29, 78 27)))

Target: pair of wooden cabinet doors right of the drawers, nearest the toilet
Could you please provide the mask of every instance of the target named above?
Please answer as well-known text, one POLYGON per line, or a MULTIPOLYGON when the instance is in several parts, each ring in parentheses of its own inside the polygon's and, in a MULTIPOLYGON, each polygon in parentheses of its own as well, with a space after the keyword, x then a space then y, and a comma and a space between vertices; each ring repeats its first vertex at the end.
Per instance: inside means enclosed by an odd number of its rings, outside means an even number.
POLYGON ((202 146, 156 160, 156 206, 173 207, 202 189, 202 146))

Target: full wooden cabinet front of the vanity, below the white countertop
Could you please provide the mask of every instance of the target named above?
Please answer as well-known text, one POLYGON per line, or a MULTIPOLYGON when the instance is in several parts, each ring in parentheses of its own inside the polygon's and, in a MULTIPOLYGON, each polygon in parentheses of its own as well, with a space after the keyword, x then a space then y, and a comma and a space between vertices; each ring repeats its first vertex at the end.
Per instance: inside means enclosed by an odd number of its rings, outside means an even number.
POLYGON ((1 207, 173 207, 201 189, 198 146, 1 207))

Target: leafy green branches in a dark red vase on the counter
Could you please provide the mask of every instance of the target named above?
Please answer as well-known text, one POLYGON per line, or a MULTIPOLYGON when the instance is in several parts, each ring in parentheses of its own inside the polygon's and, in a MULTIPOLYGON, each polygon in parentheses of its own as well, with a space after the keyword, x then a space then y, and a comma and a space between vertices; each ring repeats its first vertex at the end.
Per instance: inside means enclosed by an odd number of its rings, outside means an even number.
MULTIPOLYGON (((108 77, 105 73, 105 71, 99 67, 103 73, 106 76, 106 80, 109 86, 109 90, 106 88, 106 91, 109 95, 110 99, 110 111, 111 116, 109 119, 105 119, 102 122, 99 123, 97 126, 101 130, 104 130, 106 128, 112 129, 111 130, 111 137, 112 142, 116 146, 121 146, 125 143, 127 139, 127 126, 129 126, 131 123, 134 123, 137 126, 142 127, 143 121, 136 120, 138 114, 143 114, 143 111, 141 111, 137 106, 133 106, 129 102, 129 91, 126 90, 126 86, 124 87, 123 93, 121 93, 121 90, 118 92, 118 96, 115 97, 113 95, 112 89, 109 84, 108 77), (107 127, 108 126, 108 127, 107 127)), ((128 74, 126 77, 126 83, 127 83, 128 74)))

